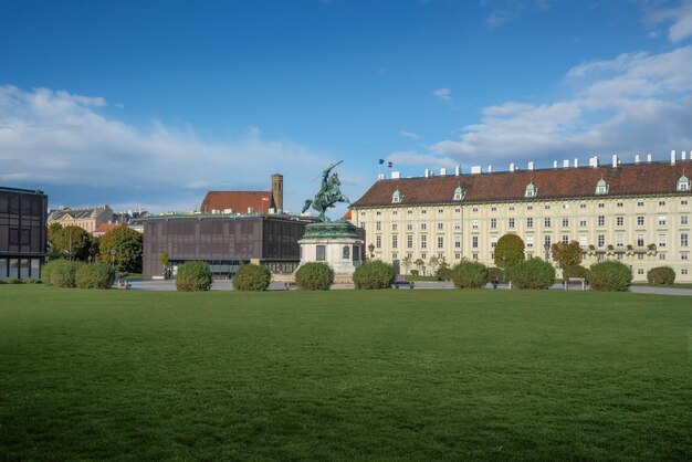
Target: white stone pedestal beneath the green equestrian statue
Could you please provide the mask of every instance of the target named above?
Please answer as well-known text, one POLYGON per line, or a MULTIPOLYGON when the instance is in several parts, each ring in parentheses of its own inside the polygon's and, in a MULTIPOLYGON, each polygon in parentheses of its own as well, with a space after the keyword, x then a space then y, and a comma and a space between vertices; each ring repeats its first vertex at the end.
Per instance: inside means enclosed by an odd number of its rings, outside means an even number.
POLYGON ((355 225, 347 221, 311 223, 305 227, 301 244, 301 265, 326 263, 336 275, 350 275, 360 266, 363 240, 355 225))

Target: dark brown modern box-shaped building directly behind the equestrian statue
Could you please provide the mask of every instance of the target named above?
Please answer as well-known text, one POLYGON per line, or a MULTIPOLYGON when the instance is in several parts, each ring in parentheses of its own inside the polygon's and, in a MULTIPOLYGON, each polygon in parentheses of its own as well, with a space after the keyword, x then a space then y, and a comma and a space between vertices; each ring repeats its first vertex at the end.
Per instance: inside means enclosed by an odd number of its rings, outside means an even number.
POLYGON ((135 220, 144 225, 143 272, 161 275, 161 255, 169 266, 186 261, 209 263, 214 277, 231 277, 243 263, 268 265, 289 274, 301 261, 298 240, 316 219, 284 214, 168 214, 135 220))

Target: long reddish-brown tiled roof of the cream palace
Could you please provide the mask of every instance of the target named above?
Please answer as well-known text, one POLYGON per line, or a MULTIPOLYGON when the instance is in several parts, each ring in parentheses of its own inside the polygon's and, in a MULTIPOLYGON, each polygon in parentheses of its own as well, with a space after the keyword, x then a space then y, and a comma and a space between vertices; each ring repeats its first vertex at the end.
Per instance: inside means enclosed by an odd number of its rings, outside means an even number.
MULTIPOLYGON (((354 207, 391 206, 391 196, 397 189, 403 195, 398 206, 455 202, 452 199, 459 186, 465 191, 465 197, 459 201, 460 203, 680 195, 681 192, 677 192, 677 186, 683 170, 692 171, 692 162, 683 161, 674 166, 668 162, 627 164, 617 168, 580 167, 380 180, 375 182, 354 207), (596 183, 601 176, 610 189, 607 195, 597 196, 596 183), (524 198, 526 185, 531 181, 538 192, 535 198, 524 198)), ((689 196, 690 192, 682 195, 689 196)))

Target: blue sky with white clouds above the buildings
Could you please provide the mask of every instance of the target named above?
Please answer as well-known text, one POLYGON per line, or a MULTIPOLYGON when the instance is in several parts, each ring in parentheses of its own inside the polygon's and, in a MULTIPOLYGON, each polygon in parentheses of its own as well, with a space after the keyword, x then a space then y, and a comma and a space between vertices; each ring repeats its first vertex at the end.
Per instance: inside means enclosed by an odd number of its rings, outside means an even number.
POLYGON ((692 149, 690 1, 0 0, 0 185, 53 207, 692 149))

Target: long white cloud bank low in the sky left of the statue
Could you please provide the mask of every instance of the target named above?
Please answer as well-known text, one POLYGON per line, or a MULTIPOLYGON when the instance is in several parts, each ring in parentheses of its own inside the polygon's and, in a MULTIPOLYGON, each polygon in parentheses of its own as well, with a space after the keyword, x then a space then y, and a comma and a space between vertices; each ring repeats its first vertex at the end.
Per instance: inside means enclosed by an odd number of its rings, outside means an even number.
MULTIPOLYGON (((195 208, 206 189, 268 190, 271 174, 281 172, 284 202, 295 212, 316 192, 311 179, 319 166, 334 160, 289 140, 268 140, 259 128, 219 141, 185 125, 135 127, 99 114, 106 104, 62 91, 0 86, 0 181, 46 185, 57 201, 69 189, 83 189, 93 195, 81 198, 83 203, 155 210, 158 203, 168 210, 167 204, 195 208)), ((355 193, 349 185, 364 182, 357 171, 355 165, 339 167, 347 195, 355 193)))

